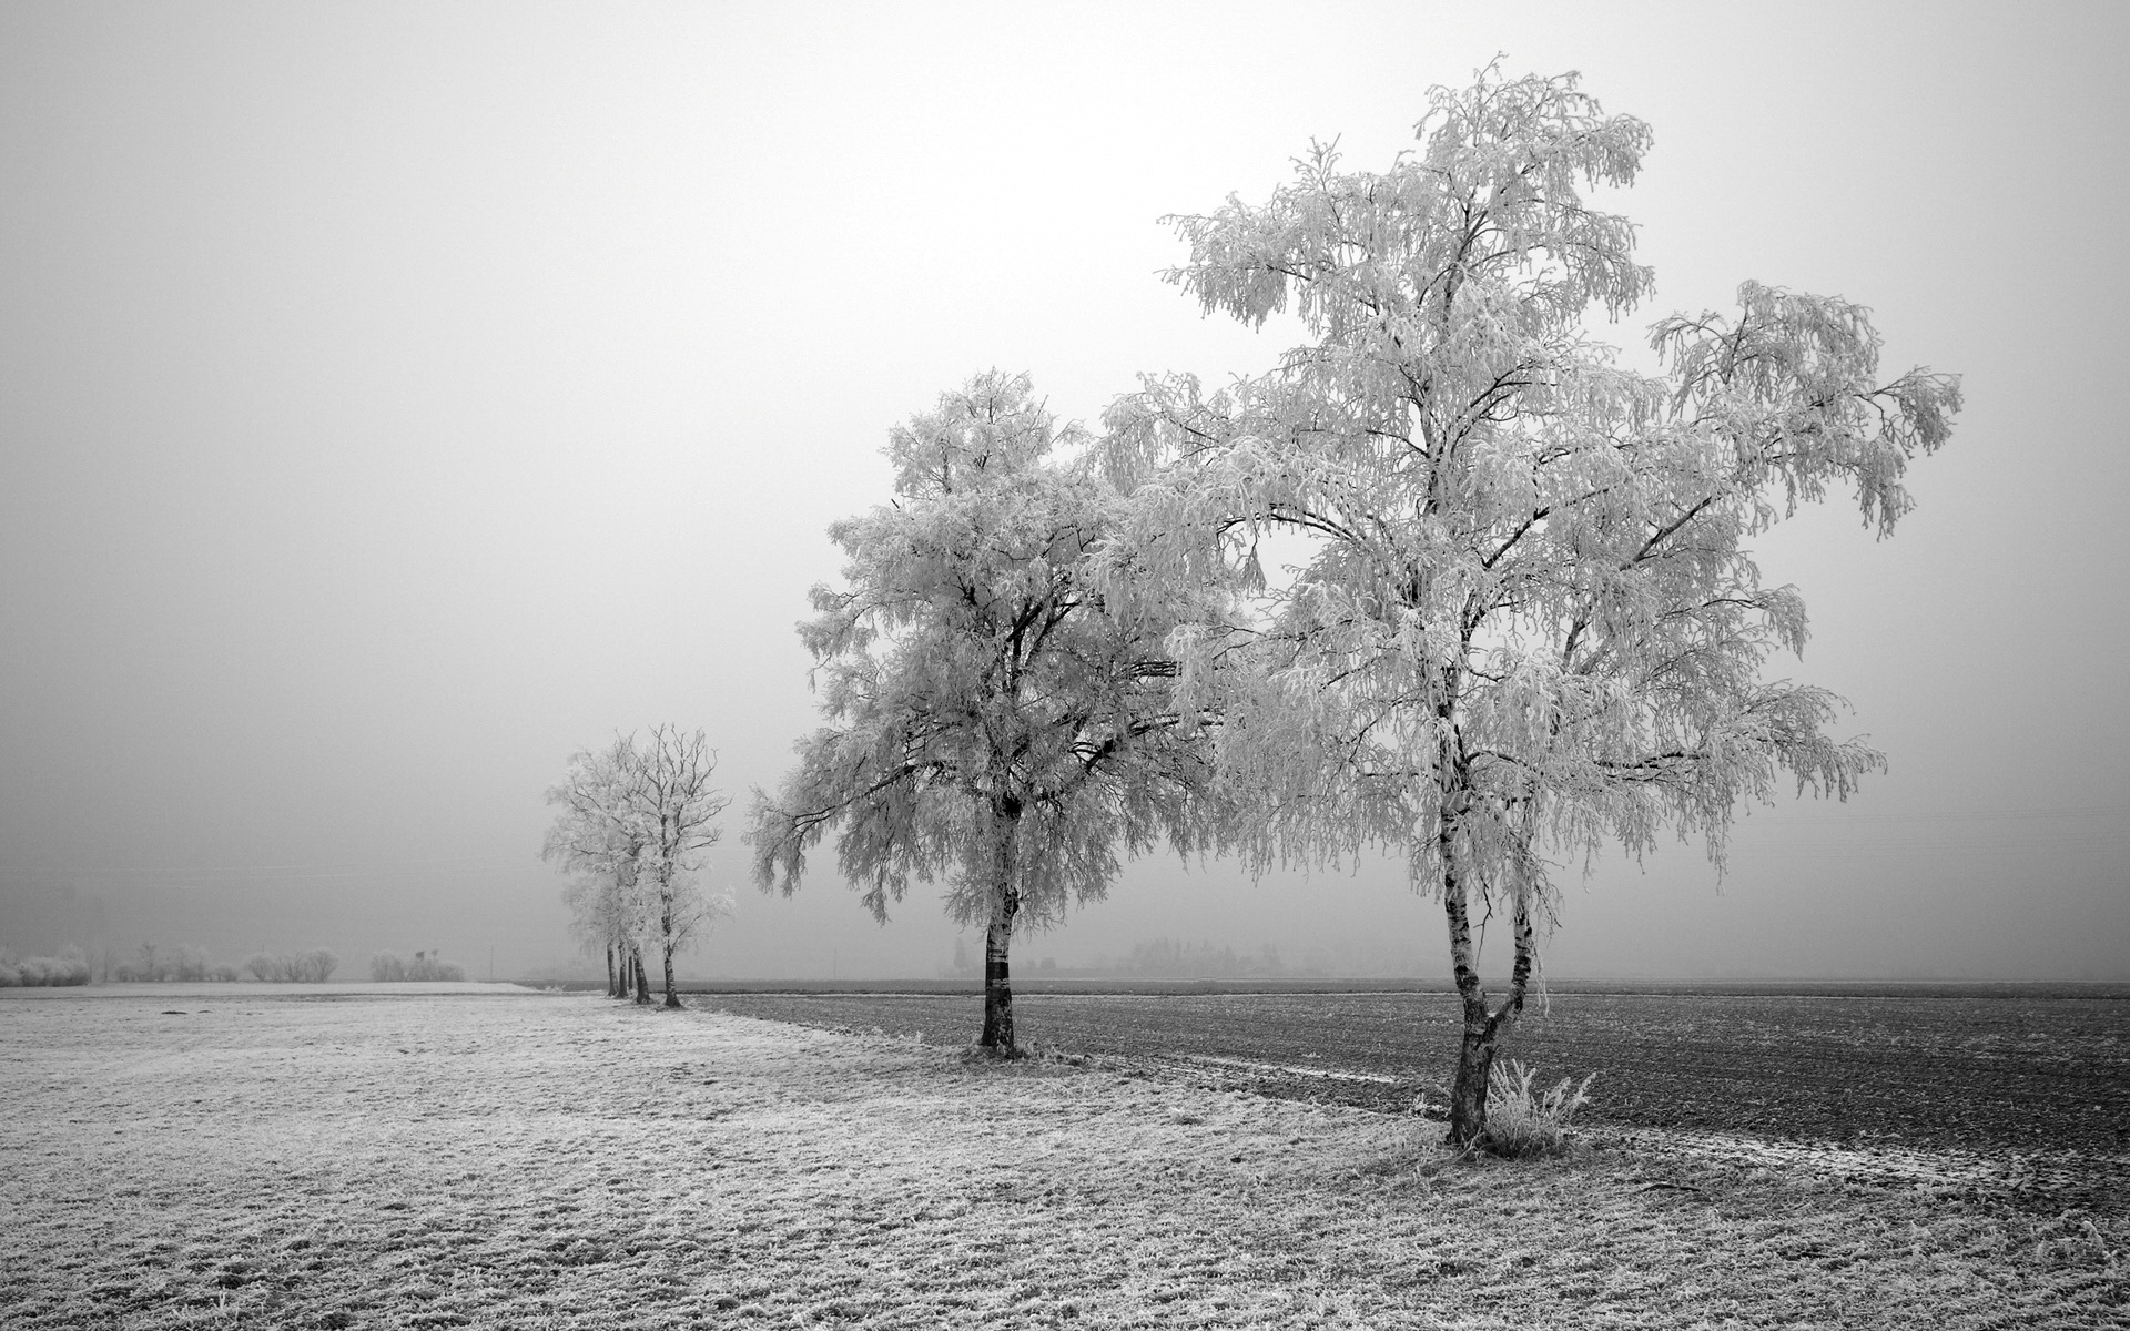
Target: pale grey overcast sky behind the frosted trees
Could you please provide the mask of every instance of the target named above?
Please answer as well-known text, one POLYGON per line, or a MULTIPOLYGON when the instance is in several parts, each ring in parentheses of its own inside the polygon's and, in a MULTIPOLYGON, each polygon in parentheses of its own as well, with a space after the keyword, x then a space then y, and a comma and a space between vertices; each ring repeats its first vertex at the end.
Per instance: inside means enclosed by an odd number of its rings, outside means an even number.
MULTIPOLYGON (((739 914, 690 969, 931 975, 739 845, 816 724, 792 624, 886 430, 988 366, 1093 422, 1252 373, 1165 213, 1310 138, 1412 143, 1497 51, 1655 126, 1657 296, 1870 305, 1964 375, 1877 543, 1759 543, 1891 771, 1570 871, 1555 977, 2130 977, 2130 11, 1781 4, 0 6, 0 943, 571 956, 537 860, 571 750, 701 726, 739 914)), ((1446 973, 1361 865, 1174 858, 1022 941, 1446 973)))

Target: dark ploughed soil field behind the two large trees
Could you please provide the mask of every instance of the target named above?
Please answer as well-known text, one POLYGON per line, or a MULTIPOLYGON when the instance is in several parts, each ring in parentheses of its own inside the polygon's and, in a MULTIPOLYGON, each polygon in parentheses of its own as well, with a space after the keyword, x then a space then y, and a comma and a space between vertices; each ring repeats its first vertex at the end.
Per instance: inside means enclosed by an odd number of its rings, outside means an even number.
MULTIPOLYGON (((705 992, 746 1016, 969 1044, 976 995, 705 992)), ((1025 1044, 1282 1099, 1442 1103, 1446 992, 1025 992, 1025 1044)), ((1504 1046, 1544 1080, 1598 1073, 1587 1118, 1994 1156, 2043 1205, 2130 1190, 2130 995, 2119 986, 1555 992, 1504 1046)))

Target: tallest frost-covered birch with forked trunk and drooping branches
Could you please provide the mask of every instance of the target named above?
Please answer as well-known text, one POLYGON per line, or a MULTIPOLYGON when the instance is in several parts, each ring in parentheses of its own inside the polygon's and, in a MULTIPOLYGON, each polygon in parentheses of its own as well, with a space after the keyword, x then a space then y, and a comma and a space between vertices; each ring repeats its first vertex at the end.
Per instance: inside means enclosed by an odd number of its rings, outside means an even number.
POLYGON ((1649 128, 1576 77, 1433 89, 1387 172, 1314 147, 1263 204, 1182 217, 1169 279, 1203 309, 1308 341, 1206 394, 1150 379, 1108 413, 1144 486, 1133 558, 1252 584, 1255 545, 1308 554, 1246 652, 1180 635, 1186 705, 1220 707, 1223 779, 1259 856, 1399 854, 1440 899, 1463 1003, 1451 1133, 1485 1133, 1487 1073, 1538 965, 1557 860, 1659 833, 1723 858, 1785 775, 1847 796, 1881 765, 1832 739, 1838 699, 1764 669, 1804 603, 1744 543, 1853 490, 1889 535, 1904 464, 1949 434, 1957 379, 1879 375, 1868 311, 1744 283, 1738 309, 1653 328, 1661 375, 1585 332, 1651 287, 1625 217, 1649 128), (1500 1003, 1474 916, 1504 914, 1500 1003))

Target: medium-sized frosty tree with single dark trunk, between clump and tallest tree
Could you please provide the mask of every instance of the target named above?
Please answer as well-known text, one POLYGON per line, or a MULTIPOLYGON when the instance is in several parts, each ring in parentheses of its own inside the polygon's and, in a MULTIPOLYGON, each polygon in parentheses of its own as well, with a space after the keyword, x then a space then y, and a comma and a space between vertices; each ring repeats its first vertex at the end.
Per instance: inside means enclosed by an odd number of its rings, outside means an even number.
POLYGON ((1025 375, 988 373, 892 430, 895 503, 837 522, 846 590, 814 588, 801 637, 829 724, 754 796, 754 875, 799 886, 839 828, 837 865, 875 918, 912 880, 984 926, 982 1046, 1014 1046, 1016 931, 1099 899, 1118 848, 1193 845, 1199 756, 1169 707, 1176 624, 1091 552, 1120 496, 1025 375))

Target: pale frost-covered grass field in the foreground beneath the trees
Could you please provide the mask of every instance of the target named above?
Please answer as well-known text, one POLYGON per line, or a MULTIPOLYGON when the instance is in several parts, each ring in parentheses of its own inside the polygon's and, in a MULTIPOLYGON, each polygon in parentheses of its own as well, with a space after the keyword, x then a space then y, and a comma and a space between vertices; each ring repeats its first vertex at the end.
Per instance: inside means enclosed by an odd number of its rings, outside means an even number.
POLYGON ((2126 1222, 552 995, 0 1003, 6 1327, 2121 1327, 2126 1222))

